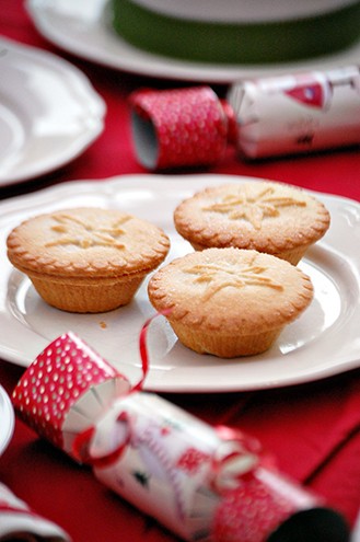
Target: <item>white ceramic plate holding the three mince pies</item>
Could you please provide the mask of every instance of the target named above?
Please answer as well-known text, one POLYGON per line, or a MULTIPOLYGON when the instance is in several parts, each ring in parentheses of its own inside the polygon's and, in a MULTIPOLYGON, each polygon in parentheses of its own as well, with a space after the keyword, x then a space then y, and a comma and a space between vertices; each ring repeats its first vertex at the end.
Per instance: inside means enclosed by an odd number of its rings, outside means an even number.
MULTIPOLYGON (((72 331, 131 380, 140 376, 138 337, 154 310, 147 281, 133 302, 105 314, 70 314, 48 307, 30 280, 5 256, 10 229, 30 216, 82 206, 115 207, 150 220, 167 232, 167 261, 191 249, 173 226, 175 206, 195 191, 248 177, 225 175, 128 175, 102 182, 72 182, 0 205, 0 356, 22 366, 49 342, 72 331)), ((326 237, 301 267, 314 284, 315 297, 266 354, 234 360, 193 353, 182 346, 163 316, 149 332, 151 370, 146 388, 169 392, 256 390, 321 379, 360 366, 360 205, 318 196, 333 221, 326 237)))

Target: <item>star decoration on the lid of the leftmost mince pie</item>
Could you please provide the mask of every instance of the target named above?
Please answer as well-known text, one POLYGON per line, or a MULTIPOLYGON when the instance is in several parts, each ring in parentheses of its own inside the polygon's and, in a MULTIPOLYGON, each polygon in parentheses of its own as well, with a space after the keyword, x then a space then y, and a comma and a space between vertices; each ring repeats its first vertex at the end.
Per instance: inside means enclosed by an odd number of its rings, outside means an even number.
POLYGON ((46 246, 74 244, 81 249, 111 246, 123 250, 125 245, 118 241, 118 238, 124 235, 121 226, 129 218, 124 216, 108 227, 98 227, 73 216, 55 215, 53 219, 56 223, 51 226, 51 231, 58 233, 58 238, 46 243, 46 246))

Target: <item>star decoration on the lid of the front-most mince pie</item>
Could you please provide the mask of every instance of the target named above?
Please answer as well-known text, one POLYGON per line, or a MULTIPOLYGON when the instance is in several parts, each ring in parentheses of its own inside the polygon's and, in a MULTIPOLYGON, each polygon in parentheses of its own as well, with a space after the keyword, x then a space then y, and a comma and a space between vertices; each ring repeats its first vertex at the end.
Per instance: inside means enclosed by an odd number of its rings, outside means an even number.
POLYGON ((208 288, 205 299, 210 299, 223 288, 244 288, 244 286, 264 286, 282 290, 283 287, 265 275, 267 267, 249 263, 240 268, 225 264, 197 264, 185 269, 186 273, 196 275, 195 282, 205 282, 208 288))

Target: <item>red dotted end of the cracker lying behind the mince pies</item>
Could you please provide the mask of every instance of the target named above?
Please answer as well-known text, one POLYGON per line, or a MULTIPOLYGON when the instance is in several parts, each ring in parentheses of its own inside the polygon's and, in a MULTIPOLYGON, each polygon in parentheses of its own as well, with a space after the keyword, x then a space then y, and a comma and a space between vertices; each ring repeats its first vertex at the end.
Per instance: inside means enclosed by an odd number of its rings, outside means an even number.
POLYGON ((138 160, 151 170, 213 164, 235 138, 232 107, 210 87, 140 90, 130 105, 138 160))

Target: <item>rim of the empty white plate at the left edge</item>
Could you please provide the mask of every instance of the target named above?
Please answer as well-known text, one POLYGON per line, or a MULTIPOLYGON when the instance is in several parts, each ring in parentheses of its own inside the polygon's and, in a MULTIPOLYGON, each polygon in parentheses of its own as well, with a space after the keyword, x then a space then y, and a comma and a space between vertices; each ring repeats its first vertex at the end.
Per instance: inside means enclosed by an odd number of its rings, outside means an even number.
MULTIPOLYGON (((77 106, 82 108, 81 117, 79 115, 80 109, 77 111, 77 122, 79 123, 81 118, 85 120, 83 123, 85 129, 83 129, 81 134, 73 135, 71 138, 68 138, 67 141, 57 142, 53 152, 46 152, 46 155, 44 155, 42 160, 34 159, 31 153, 27 155, 25 149, 27 169, 22 168, 19 171, 18 168, 16 171, 16 164, 4 172, 1 172, 0 169, 0 186, 7 186, 49 173, 80 155, 103 131, 106 105, 88 77, 61 57, 37 47, 25 46, 24 44, 16 43, 2 36, 0 37, 0 50, 1 49, 7 49, 10 53, 13 51, 16 55, 20 55, 26 62, 31 61, 35 68, 38 65, 42 70, 46 69, 48 70, 48 73, 51 73, 58 81, 61 80, 63 89, 68 92, 68 99, 74 101, 77 97, 77 106), (73 92, 74 90, 77 90, 76 93, 73 92), (83 99, 81 101, 80 93, 83 99)), ((13 68, 16 69, 16 66, 13 66, 13 68)), ((7 78, 1 80, 1 85, 5 89, 7 78)), ((16 103, 16 89, 11 89, 11 91, 12 100, 16 103)), ((23 106, 26 106, 26 104, 23 104, 23 106)), ((28 114, 30 112, 27 111, 26 113, 28 114)), ((32 134, 31 137, 32 140, 36 141, 36 135, 32 134)), ((26 141, 26 143, 28 143, 28 141, 26 141)))

